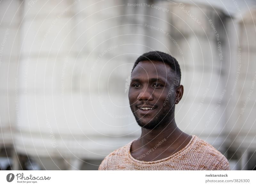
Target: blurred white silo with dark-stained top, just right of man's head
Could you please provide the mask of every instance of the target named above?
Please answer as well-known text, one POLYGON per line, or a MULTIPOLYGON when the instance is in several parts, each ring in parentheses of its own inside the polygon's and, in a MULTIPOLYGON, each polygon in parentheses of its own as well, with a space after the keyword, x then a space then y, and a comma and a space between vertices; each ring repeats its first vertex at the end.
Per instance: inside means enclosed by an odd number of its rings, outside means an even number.
POLYGON ((180 63, 184 85, 184 95, 175 108, 177 123, 219 149, 227 97, 224 64, 229 54, 223 51, 226 16, 204 5, 176 3, 170 9, 172 26, 167 39, 180 63))

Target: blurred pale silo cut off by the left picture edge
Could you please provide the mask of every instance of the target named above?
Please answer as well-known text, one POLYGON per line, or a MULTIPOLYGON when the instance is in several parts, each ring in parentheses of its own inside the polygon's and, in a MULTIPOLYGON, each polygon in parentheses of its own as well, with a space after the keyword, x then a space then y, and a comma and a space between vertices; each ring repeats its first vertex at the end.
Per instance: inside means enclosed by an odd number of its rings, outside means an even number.
POLYGON ((0 147, 8 154, 15 154, 13 170, 19 170, 19 162, 13 147, 13 137, 20 122, 18 100, 18 56, 20 53, 21 1, 2 1, 0 6, 0 147), (10 150, 12 149, 12 150, 10 150))

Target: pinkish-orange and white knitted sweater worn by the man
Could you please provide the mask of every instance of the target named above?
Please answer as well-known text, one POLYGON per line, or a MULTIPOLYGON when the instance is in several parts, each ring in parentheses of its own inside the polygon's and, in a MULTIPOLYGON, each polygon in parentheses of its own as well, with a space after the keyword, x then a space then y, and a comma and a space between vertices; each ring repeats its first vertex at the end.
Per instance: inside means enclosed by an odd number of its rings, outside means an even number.
POLYGON ((132 142, 110 153, 99 170, 230 170, 228 160, 219 151, 194 135, 180 151, 149 162, 132 157, 132 142))

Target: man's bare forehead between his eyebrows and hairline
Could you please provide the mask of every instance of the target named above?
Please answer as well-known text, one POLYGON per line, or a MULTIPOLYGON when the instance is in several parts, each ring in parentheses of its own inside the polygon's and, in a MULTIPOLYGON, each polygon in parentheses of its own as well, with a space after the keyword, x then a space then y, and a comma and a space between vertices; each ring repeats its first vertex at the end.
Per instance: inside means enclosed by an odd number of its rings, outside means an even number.
POLYGON ((132 71, 131 78, 143 76, 144 78, 169 79, 173 76, 172 68, 161 61, 140 61, 132 71))

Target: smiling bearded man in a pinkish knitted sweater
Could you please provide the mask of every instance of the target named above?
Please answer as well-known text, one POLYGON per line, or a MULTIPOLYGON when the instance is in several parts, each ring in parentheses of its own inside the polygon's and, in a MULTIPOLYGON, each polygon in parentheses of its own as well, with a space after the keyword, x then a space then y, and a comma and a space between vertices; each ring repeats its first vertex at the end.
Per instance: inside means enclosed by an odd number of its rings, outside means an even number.
POLYGON ((151 51, 136 60, 128 97, 141 136, 110 153, 99 170, 230 170, 219 151, 177 127, 180 78, 180 66, 169 54, 151 51))

